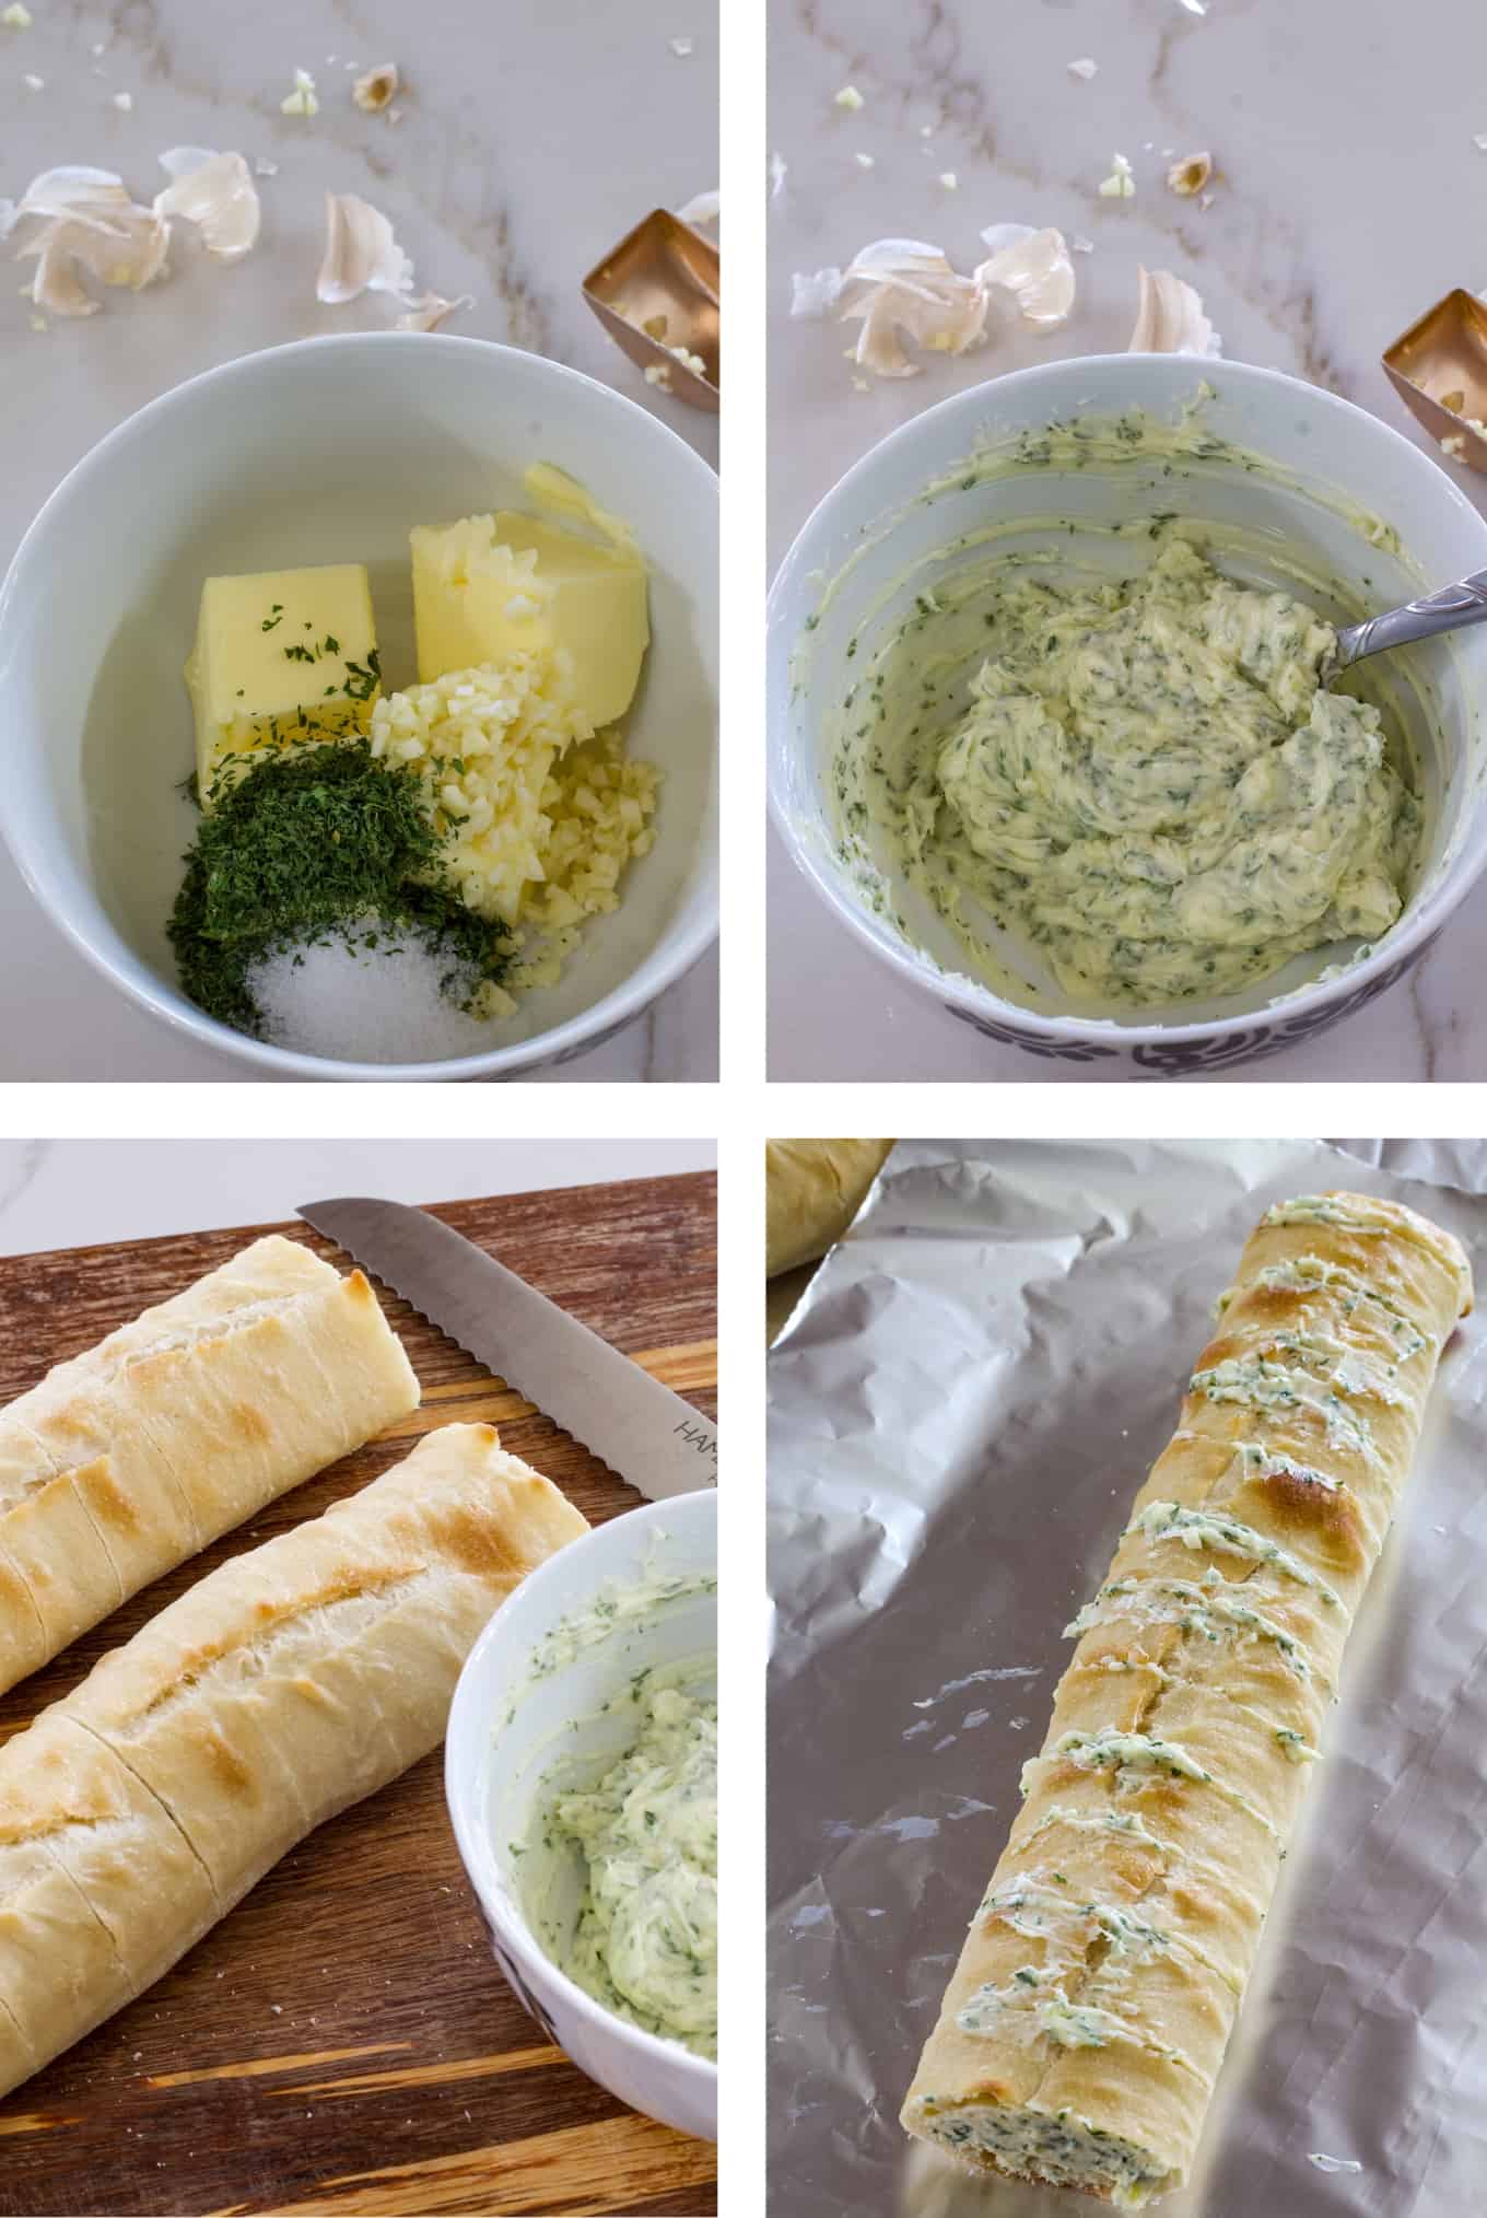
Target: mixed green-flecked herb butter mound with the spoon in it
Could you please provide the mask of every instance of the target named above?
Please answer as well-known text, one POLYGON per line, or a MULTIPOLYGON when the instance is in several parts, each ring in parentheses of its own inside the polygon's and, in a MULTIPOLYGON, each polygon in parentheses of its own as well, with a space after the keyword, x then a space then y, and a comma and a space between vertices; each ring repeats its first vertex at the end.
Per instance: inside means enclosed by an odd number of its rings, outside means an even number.
POLYGON ((913 681, 940 614, 920 597, 838 781, 849 823, 882 823, 951 923, 973 929, 971 896, 1073 998, 1157 1005, 1401 914, 1421 807, 1378 710, 1319 690, 1334 632, 1301 601, 1168 539, 1121 583, 1008 563, 977 610, 966 703, 964 670, 926 657, 913 681))

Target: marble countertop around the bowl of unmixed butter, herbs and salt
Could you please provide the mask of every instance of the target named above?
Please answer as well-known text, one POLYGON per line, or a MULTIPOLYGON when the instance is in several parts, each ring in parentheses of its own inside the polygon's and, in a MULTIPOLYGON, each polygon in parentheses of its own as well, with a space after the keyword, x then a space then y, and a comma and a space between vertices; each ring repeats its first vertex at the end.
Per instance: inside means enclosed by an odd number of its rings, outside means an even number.
MULTIPOLYGON (((58 162, 162 184, 168 146, 237 149, 264 237, 235 268, 197 268, 106 311, 31 330, 24 268, 0 288, 0 570, 58 479, 115 424, 197 370, 286 339, 383 328, 388 304, 315 299, 324 193, 392 220, 419 286, 472 293, 450 330, 503 339, 618 386, 716 466, 718 419, 658 395, 594 322, 578 279, 632 222, 718 182, 716 7, 694 0, 29 0, 0 27, 0 195, 58 162), (671 53, 691 38, 691 53, 671 53), (98 51, 102 49, 102 51, 98 51), (352 106, 352 69, 392 60, 399 120, 352 106), (319 115, 286 118, 295 69, 319 115), (40 78, 40 89, 27 84, 40 78), (117 106, 120 95, 129 106, 117 106)), ((437 342, 430 342, 437 344, 437 342)), ((98 978, 0 854, 0 1076, 242 1080, 98 978)), ((707 956, 616 1040, 534 1082, 716 1076, 718 965, 707 956)))

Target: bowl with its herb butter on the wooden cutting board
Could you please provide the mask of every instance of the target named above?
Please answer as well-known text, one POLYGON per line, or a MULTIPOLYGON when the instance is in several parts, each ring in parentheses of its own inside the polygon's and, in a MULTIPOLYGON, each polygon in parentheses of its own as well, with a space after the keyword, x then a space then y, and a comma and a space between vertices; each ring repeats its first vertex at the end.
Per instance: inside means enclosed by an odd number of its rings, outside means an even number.
POLYGON ((543 1564, 465 1664, 445 1743, 494 1956, 589 2078, 718 2134, 718 1497, 543 1564))

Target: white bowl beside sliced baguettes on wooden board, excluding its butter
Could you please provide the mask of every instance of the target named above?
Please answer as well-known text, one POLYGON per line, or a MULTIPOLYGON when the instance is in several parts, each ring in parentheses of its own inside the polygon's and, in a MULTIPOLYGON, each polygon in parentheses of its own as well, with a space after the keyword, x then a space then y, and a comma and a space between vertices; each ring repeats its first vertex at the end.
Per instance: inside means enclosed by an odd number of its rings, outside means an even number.
MULTIPOLYGON (((496 1610, 474 1644, 454 1690, 445 1741, 445 1794, 454 1839, 474 1888, 496 1961, 532 2016, 572 2061, 649 2118, 683 2134, 718 2138, 718 2067, 676 2041, 616 2018, 543 1952, 523 1910, 532 1874, 525 1843, 534 1810, 552 1790, 554 1766, 565 1783, 598 1777, 634 1741, 629 1703, 603 1715, 605 1701, 656 1664, 711 1657, 718 1606, 711 1593, 683 1595, 652 1617, 621 1624, 607 1637, 567 1652, 558 1641, 552 1668, 532 1664, 547 1635, 585 1610, 601 1588, 636 1586, 647 1575, 718 1575, 718 1495, 678 1495, 614 1517, 539 1566, 496 1610)), ((552 1874, 552 1907, 574 1914, 581 1859, 552 1874)))

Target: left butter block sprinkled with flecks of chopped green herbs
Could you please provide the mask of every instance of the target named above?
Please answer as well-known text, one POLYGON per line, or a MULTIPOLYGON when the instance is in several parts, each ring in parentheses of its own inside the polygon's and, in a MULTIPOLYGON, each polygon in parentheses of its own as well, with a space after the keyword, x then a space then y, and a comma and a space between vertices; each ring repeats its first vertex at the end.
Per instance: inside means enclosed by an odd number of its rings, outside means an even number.
POLYGON ((186 690, 202 807, 257 750, 363 732, 381 692, 363 566, 208 577, 186 690))

